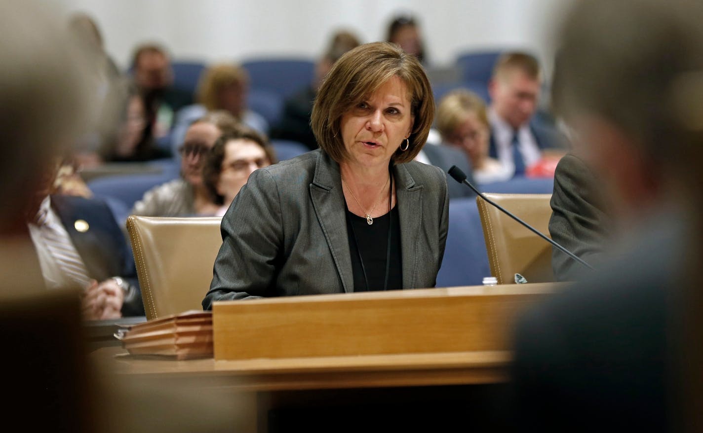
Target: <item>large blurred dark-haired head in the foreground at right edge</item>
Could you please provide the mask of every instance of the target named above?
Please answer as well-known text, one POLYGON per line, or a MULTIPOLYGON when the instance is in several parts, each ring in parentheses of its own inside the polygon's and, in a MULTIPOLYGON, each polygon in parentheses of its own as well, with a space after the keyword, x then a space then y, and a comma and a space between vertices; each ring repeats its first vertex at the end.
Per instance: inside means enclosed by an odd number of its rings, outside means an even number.
POLYGON ((621 213, 665 191, 703 206, 702 6, 579 1, 562 25, 553 105, 621 213))

